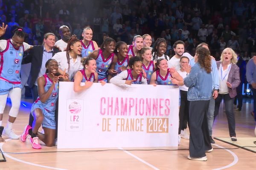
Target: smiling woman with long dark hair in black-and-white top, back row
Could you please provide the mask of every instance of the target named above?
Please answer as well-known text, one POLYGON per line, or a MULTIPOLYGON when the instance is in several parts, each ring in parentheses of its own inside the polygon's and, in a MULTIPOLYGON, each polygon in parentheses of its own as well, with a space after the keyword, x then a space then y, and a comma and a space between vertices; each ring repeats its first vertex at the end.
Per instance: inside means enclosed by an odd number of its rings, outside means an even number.
POLYGON ((152 61, 157 61, 160 58, 166 59, 169 61, 169 56, 166 54, 167 43, 164 38, 158 38, 157 41, 154 43, 152 49, 152 61))

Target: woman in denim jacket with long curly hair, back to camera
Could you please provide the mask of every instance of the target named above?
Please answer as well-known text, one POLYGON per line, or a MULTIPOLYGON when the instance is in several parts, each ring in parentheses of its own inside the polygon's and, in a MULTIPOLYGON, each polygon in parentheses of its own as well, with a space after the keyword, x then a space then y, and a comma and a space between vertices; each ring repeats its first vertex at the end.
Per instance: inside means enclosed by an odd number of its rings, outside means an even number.
POLYGON ((189 156, 188 159, 206 161, 205 152, 211 152, 207 111, 212 95, 211 57, 207 48, 198 48, 195 54, 195 65, 184 84, 189 87, 189 156))

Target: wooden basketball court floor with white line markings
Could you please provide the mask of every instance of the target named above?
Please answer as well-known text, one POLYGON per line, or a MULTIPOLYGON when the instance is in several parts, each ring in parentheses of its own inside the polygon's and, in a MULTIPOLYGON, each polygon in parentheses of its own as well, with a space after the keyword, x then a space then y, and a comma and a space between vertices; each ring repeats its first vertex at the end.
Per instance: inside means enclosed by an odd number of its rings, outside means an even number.
MULTIPOLYGON (((31 100, 25 100, 30 102, 31 100)), ((221 109, 223 104, 221 105, 221 109)), ((236 115, 237 137, 255 137, 255 122, 250 115, 253 109, 252 103, 244 103, 241 112, 236 115)), ((10 103, 6 105, 3 117, 3 125, 6 126, 10 103)), ((14 131, 20 135, 28 123, 30 106, 21 105, 20 113, 14 123, 14 131)), ((221 111, 213 126, 213 136, 229 137, 227 118, 221 111)), ((6 138, 5 138, 6 139, 6 138)), ((68 140, 68 139, 67 139, 68 140)), ((0 148, 5 153, 6 162, 0 162, 0 170, 253 170, 256 167, 256 154, 244 149, 236 148, 230 144, 215 140, 212 144, 214 150, 207 154, 207 161, 191 161, 189 155, 189 140, 181 139, 178 149, 185 150, 143 150, 157 148, 99 148, 97 150, 116 149, 110 151, 82 151, 82 152, 58 152, 72 151, 74 149, 57 149, 57 147, 45 147, 41 150, 32 149, 29 138, 26 142, 6 139, 6 143, 0 143, 0 148), (221 149, 229 148, 229 149, 221 149), (120 149, 140 149, 123 151, 120 149), (11 152, 11 153, 8 153, 11 152), (13 154, 24 152, 38 152, 27 154, 13 154), (40 153, 49 152, 49 153, 40 153)), ((164 148, 174 149, 174 148, 164 148)), ((78 149, 76 149, 78 150, 78 149)), ((94 150, 84 149, 81 150, 94 150)))

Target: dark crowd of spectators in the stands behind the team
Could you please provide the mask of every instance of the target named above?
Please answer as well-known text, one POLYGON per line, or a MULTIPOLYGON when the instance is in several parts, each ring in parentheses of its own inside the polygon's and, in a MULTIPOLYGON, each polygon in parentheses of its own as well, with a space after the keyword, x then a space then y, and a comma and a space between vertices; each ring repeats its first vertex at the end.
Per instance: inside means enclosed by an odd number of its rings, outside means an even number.
POLYGON ((31 45, 40 44, 46 32, 60 38, 58 28, 67 25, 79 39, 90 26, 98 45, 106 34, 128 44, 135 35, 150 34, 153 43, 162 37, 170 57, 177 40, 192 55, 198 43, 207 42, 216 60, 226 47, 241 51, 244 60, 256 52, 254 0, 0 0, 0 22, 8 24, 3 38, 19 25, 31 45))

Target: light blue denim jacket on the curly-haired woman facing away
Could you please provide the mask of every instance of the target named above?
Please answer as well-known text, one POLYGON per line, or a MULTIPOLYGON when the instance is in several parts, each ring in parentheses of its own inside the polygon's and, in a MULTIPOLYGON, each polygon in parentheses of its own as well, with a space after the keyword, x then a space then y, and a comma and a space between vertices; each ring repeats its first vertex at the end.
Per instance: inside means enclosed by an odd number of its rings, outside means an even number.
POLYGON ((189 75, 184 79, 184 84, 189 88, 188 100, 209 100, 212 96, 212 74, 195 63, 189 75))

